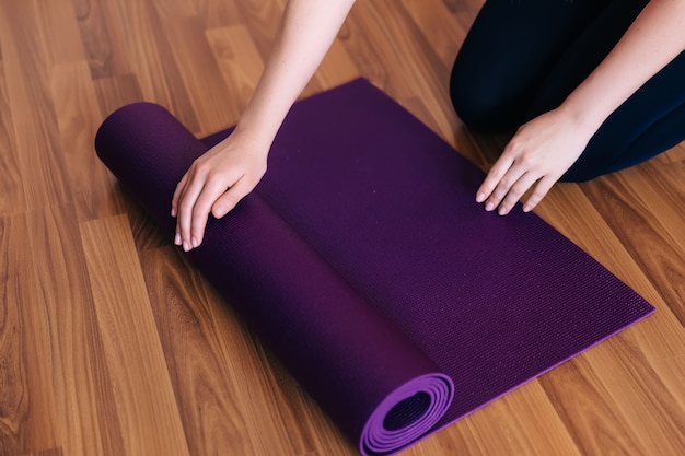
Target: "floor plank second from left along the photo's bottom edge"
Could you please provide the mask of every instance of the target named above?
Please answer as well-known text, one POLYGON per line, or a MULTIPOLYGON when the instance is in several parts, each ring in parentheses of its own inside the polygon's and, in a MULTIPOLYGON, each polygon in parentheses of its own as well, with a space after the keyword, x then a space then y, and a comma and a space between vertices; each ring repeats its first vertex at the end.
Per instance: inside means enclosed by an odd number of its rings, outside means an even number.
MULTIPOLYGON (((88 69, 88 67, 86 67, 88 69)), ((124 455, 113 385, 72 206, 28 214, 26 237, 40 283, 59 442, 70 456, 124 455)))

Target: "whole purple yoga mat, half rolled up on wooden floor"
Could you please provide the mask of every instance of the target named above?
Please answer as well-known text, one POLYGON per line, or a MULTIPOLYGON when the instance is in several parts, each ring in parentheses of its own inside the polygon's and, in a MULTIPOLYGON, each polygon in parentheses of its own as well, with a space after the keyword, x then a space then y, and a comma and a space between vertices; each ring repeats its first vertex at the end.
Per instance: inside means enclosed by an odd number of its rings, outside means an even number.
MULTIPOLYGON (((125 106, 95 148, 170 239, 196 139, 125 106)), ((297 103, 255 191, 190 260, 363 455, 394 454, 653 308, 363 79, 297 103)))

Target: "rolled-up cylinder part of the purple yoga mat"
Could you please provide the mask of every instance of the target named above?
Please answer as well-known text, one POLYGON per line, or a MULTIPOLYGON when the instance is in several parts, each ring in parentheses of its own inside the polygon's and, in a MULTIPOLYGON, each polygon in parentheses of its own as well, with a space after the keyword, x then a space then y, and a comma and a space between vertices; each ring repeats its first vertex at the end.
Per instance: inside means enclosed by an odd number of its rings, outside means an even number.
MULTIPOLYGON (((175 186, 207 145, 163 107, 137 103, 103 122, 95 149, 171 239, 175 186)), ((450 407, 452 379, 258 192, 211 219, 188 258, 362 454, 406 447, 450 407)))

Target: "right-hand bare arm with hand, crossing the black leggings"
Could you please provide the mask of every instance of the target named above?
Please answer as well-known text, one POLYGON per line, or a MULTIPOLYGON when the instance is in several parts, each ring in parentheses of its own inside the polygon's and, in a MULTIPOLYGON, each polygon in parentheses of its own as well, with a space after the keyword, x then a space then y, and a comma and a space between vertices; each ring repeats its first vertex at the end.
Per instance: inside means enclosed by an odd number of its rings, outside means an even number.
POLYGON ((506 214, 532 186, 532 210, 571 167, 602 122, 685 49, 685 0, 652 0, 604 61, 549 113, 522 126, 477 191, 506 214), (535 184, 537 183, 537 184, 535 184))

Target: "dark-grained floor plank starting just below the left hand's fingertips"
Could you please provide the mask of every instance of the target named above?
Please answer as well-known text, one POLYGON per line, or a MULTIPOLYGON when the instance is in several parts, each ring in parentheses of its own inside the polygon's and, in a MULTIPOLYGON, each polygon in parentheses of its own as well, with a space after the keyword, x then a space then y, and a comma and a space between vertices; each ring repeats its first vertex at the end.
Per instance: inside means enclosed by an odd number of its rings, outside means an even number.
POLYGON ((190 454, 221 454, 228 447, 256 454, 237 404, 241 391, 232 385, 234 366, 251 360, 222 340, 245 337, 245 330, 212 319, 210 307, 222 305, 221 300, 175 250, 148 249, 140 259, 190 454), (232 359, 227 359, 227 349, 235 353, 232 359))

